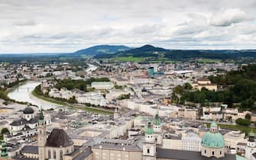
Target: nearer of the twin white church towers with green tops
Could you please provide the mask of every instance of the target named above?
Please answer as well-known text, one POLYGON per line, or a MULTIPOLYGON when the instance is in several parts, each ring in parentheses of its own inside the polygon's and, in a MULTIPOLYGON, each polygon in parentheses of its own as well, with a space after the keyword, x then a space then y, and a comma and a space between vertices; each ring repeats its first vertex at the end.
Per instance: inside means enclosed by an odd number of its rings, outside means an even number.
POLYGON ((148 122, 145 130, 145 141, 143 144, 143 160, 156 160, 157 147, 154 138, 154 130, 148 122))

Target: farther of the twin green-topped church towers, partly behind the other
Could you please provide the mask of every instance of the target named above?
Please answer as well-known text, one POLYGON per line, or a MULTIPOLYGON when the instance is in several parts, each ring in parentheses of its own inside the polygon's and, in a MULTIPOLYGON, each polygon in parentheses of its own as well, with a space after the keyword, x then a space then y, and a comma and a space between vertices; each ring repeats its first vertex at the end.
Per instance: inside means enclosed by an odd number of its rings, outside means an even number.
POLYGON ((154 130, 154 137, 157 142, 157 145, 161 145, 163 142, 162 124, 158 114, 156 114, 156 116, 154 117, 153 130, 154 130))

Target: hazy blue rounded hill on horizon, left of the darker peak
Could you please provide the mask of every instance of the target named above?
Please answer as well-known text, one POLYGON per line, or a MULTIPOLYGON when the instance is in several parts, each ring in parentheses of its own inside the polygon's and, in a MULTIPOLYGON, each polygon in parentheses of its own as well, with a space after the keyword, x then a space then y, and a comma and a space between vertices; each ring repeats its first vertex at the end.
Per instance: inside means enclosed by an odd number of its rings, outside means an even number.
POLYGON ((101 54, 112 54, 121 52, 124 50, 130 50, 128 46, 115 46, 115 45, 99 45, 91 46, 83 50, 77 50, 74 52, 75 55, 87 55, 87 56, 96 56, 101 54))

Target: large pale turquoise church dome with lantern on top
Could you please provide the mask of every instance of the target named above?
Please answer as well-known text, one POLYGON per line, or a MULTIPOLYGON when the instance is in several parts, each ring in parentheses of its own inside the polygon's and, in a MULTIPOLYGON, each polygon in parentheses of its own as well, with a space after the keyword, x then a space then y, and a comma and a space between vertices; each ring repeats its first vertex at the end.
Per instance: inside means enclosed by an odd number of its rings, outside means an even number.
POLYGON ((209 148, 225 147, 224 137, 221 133, 218 132, 217 127, 218 125, 215 122, 211 123, 210 131, 203 135, 202 146, 206 146, 209 148))

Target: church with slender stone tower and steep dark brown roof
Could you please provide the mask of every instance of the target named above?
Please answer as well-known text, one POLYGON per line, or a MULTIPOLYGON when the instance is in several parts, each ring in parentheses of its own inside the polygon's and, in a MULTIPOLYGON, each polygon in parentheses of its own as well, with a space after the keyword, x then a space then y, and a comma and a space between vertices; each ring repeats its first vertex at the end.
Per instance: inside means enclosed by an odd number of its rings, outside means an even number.
POLYGON ((21 149, 21 157, 15 157, 15 159, 34 158, 39 160, 71 160, 73 158, 82 157, 83 160, 92 160, 91 149, 75 149, 73 140, 64 130, 53 129, 47 137, 47 125, 42 111, 38 123, 38 145, 24 146, 23 149, 21 149))

